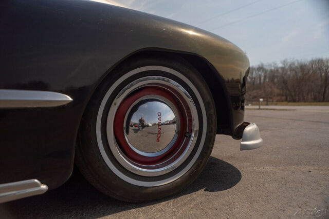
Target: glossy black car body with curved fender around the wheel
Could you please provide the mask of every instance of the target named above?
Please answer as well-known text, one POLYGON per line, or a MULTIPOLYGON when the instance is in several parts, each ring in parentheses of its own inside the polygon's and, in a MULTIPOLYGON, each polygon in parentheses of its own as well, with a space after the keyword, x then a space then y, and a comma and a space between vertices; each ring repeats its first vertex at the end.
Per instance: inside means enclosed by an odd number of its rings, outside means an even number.
POLYGON ((0 32, 0 93, 52 91, 73 100, 21 108, 0 99, 0 184, 36 178, 53 189, 66 182, 89 99, 116 66, 146 53, 180 56, 202 72, 216 107, 216 133, 242 138, 249 61, 220 36, 81 0, 1 1, 0 32))

